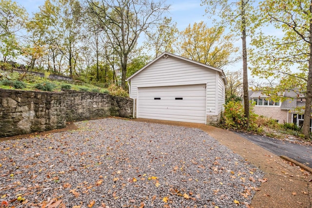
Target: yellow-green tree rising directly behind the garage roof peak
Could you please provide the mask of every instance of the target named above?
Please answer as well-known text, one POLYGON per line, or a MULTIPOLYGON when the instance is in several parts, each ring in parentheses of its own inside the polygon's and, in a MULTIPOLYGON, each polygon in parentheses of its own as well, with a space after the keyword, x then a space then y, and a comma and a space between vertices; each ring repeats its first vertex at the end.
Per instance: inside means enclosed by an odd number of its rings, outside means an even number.
POLYGON ((172 18, 165 17, 162 22, 146 32, 147 40, 144 43, 150 52, 154 52, 154 57, 158 57, 165 51, 174 53, 173 45, 177 40, 178 32, 176 23, 172 23, 172 18))

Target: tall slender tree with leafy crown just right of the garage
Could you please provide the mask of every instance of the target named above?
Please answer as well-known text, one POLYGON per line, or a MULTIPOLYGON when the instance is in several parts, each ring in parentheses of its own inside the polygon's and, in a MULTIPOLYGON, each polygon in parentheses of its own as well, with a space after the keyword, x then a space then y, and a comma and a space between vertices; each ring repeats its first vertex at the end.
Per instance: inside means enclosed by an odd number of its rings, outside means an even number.
POLYGON ((213 17, 220 17, 220 24, 229 26, 230 30, 242 39, 243 60, 243 98, 244 113, 249 126, 249 95, 248 95, 248 67, 247 67, 247 42, 246 38, 252 34, 251 25, 256 18, 253 0, 201 0, 206 6, 206 13, 213 17))

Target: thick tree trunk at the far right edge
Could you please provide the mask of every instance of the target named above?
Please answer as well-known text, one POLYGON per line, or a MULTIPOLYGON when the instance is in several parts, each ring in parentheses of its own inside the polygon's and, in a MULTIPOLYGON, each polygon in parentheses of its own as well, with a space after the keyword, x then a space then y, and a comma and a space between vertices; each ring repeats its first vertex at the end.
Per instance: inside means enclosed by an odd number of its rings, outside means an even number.
MULTIPOLYGON (((310 4, 310 11, 312 11, 312 0, 310 4)), ((310 57, 309 57, 309 73, 307 82, 306 107, 304 110, 304 119, 302 126, 302 133, 306 139, 310 138, 310 119, 311 119, 311 105, 312 105, 312 19, 310 19, 310 57)))

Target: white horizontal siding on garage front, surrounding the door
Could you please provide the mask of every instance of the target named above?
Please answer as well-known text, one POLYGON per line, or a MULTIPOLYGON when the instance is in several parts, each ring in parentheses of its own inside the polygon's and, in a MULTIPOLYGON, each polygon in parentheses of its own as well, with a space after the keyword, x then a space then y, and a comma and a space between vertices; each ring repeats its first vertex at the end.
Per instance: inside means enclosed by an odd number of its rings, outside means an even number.
POLYGON ((159 58, 131 79, 131 97, 137 98, 138 87, 181 86, 207 83, 207 109, 214 114, 215 70, 176 57, 159 58))

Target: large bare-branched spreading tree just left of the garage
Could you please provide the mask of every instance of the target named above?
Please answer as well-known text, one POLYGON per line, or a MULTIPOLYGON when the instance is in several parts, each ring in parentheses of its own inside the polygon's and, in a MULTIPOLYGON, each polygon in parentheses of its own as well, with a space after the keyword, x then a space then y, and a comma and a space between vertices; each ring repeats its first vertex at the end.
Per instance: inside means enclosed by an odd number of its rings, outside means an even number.
POLYGON ((106 33, 118 55, 121 68, 121 87, 126 88, 129 55, 137 46, 142 32, 162 19, 169 9, 163 0, 86 0, 89 12, 97 17, 98 25, 106 33))

